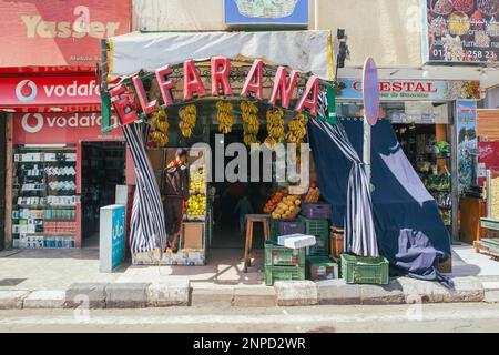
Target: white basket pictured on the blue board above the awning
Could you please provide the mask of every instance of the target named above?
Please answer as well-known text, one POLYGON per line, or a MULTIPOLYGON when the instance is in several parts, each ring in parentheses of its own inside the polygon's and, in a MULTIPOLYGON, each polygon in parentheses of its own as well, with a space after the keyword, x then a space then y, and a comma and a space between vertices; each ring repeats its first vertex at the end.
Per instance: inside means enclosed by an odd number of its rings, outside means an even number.
POLYGON ((297 2, 298 0, 235 0, 242 16, 266 19, 291 16, 297 2))

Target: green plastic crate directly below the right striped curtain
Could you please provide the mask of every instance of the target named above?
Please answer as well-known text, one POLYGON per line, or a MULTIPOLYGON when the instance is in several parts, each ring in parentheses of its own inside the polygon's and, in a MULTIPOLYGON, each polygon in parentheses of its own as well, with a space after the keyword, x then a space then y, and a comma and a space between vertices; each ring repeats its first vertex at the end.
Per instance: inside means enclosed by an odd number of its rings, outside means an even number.
POLYGON ((366 257, 342 254, 342 277, 347 284, 378 284, 389 282, 389 263, 384 256, 366 257))

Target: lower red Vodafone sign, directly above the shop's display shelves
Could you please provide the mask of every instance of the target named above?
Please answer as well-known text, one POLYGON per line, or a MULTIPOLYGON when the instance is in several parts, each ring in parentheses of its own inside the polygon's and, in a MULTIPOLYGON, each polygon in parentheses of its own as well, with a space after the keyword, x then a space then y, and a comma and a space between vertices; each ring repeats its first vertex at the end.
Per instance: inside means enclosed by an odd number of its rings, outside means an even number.
MULTIPOLYGON (((111 119, 115 123, 115 118, 111 119)), ((99 112, 16 113, 13 144, 75 144, 80 141, 122 141, 123 132, 101 132, 99 112)))

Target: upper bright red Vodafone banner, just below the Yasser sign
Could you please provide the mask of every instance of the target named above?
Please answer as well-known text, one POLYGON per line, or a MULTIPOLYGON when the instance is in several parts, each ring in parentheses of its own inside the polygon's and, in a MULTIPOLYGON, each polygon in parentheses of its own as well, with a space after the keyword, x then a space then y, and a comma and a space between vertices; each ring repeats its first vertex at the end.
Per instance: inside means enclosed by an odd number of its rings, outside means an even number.
POLYGON ((0 78, 2 108, 100 106, 100 103, 99 85, 93 75, 0 78))

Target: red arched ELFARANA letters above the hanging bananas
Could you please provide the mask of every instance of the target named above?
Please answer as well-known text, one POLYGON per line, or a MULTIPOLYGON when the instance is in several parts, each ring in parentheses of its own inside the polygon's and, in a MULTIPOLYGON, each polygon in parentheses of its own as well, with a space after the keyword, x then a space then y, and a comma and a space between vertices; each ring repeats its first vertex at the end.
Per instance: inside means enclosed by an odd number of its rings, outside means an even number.
MULTIPOLYGON (((305 84, 298 88, 299 73, 296 70, 289 70, 286 67, 277 67, 272 81, 272 90, 264 98, 264 62, 259 59, 253 61, 244 84, 238 91, 238 97, 248 100, 266 100, 269 104, 278 105, 296 112, 306 112, 309 115, 317 115, 317 103, 320 80, 317 75, 307 78, 305 84), (292 100, 295 94, 296 103, 292 106, 292 100)), ((139 74, 130 78, 129 83, 120 83, 109 90, 112 105, 118 113, 121 124, 129 124, 139 120, 140 109, 142 113, 150 114, 159 110, 160 101, 164 106, 170 106, 181 101, 191 101, 204 97, 233 97, 234 92, 230 74, 232 70, 231 61, 225 57, 212 57, 210 59, 210 88, 205 85, 194 60, 185 60, 182 63, 183 90, 181 98, 173 97, 175 82, 173 67, 164 65, 154 72, 154 79, 161 91, 161 99, 149 100, 144 89, 143 81, 139 74)), ((106 128, 103 126, 106 131, 106 128)))

